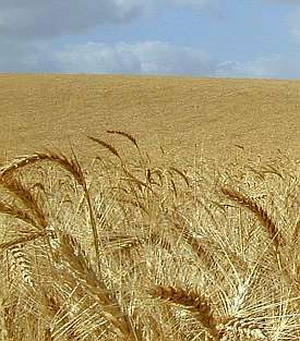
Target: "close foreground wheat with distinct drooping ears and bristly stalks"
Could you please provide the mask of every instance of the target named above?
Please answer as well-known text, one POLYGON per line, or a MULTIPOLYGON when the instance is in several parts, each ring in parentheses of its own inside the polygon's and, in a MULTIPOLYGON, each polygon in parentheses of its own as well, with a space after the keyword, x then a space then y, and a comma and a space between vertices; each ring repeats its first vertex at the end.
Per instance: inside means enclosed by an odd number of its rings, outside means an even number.
POLYGON ((180 169, 108 133, 135 157, 1 168, 1 340, 299 340, 296 161, 180 169))

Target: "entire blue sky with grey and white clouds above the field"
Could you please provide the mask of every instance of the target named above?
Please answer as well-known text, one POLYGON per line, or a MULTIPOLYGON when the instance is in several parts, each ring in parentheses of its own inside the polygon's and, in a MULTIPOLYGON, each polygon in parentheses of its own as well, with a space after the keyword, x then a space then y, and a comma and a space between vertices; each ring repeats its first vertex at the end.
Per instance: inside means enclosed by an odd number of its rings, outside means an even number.
POLYGON ((0 72, 300 78, 300 0, 0 0, 0 72))

